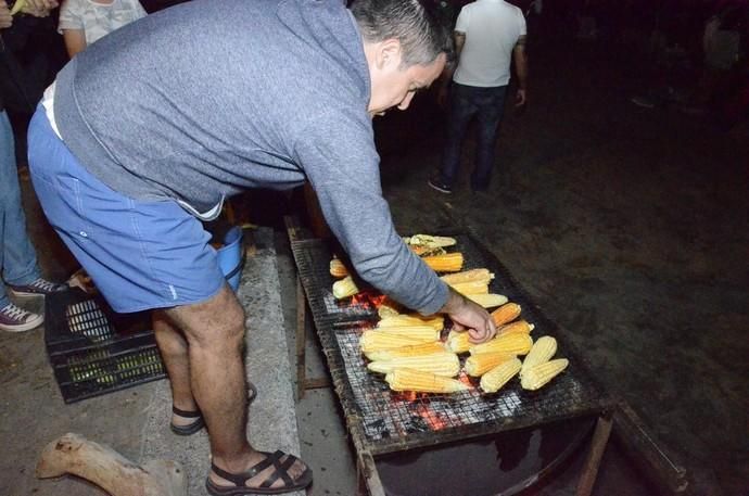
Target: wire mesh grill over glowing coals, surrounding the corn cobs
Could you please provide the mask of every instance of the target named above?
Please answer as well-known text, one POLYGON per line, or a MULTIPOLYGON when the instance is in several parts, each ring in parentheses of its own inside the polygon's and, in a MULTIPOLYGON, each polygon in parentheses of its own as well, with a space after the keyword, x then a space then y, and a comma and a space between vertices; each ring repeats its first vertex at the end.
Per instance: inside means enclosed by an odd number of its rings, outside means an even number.
POLYGON ((328 358, 333 384, 341 399, 354 441, 372 455, 430 446, 455 440, 537 425, 555 420, 596 414, 602 392, 564 342, 559 328, 545 318, 518 287, 507 269, 469 236, 457 236, 456 251, 464 254, 466 268, 485 267, 495 274, 491 292, 508 296, 533 322, 533 334, 554 335, 558 356, 570 359, 563 374, 537 392, 524 391, 512 381, 496 394, 484 394, 477 381, 466 392, 408 395, 388 389, 381 376, 367 370, 359 351, 361 332, 373 326, 377 310, 368 305, 337 302, 328 272, 329 247, 319 240, 293 241, 299 275, 328 358))

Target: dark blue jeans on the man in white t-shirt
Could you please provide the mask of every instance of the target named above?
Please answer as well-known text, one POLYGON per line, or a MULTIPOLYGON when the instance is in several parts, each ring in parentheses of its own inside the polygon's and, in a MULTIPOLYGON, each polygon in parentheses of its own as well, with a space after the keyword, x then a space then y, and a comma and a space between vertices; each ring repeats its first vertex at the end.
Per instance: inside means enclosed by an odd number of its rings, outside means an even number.
POLYGON ((507 86, 478 88, 453 82, 447 124, 447 139, 442 157, 442 182, 453 186, 460 167, 460 148, 466 129, 473 116, 478 118, 475 167, 471 174, 471 189, 488 188, 494 165, 497 128, 505 110, 507 86))

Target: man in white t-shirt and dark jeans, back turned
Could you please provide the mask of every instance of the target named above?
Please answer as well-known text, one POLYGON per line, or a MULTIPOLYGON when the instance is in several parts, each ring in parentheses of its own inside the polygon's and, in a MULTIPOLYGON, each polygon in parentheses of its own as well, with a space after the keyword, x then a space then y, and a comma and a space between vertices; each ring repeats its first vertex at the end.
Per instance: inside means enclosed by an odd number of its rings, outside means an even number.
POLYGON ((442 193, 453 191, 462 139, 477 117, 477 158, 470 183, 473 191, 485 191, 512 60, 518 75, 516 105, 526 102, 525 17, 504 0, 477 0, 460 10, 454 37, 458 63, 452 78, 446 144, 440 174, 429 186, 442 193))

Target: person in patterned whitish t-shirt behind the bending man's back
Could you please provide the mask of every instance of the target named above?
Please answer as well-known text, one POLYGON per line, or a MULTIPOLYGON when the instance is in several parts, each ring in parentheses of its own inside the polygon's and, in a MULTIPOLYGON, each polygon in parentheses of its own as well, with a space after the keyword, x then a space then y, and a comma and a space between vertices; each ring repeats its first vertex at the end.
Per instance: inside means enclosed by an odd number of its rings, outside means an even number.
POLYGON ((65 0, 58 30, 72 59, 102 36, 145 15, 138 0, 65 0))

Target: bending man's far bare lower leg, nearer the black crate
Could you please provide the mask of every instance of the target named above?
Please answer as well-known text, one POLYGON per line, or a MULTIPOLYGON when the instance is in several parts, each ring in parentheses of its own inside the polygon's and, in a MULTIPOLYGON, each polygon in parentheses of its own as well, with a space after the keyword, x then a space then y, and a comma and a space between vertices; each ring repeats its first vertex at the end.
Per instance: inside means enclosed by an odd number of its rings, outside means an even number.
MULTIPOLYGON (((185 335, 173 325, 164 310, 153 310, 151 321, 166 373, 169 376, 174 406, 185 411, 196 411, 198 405, 190 387, 190 363, 185 335)), ((172 423, 177 427, 189 425, 193 422, 195 422, 194 418, 176 414, 172 416, 172 423)))

